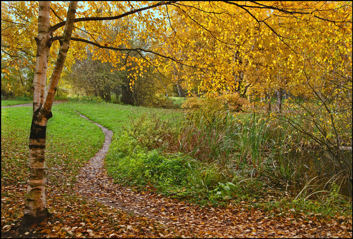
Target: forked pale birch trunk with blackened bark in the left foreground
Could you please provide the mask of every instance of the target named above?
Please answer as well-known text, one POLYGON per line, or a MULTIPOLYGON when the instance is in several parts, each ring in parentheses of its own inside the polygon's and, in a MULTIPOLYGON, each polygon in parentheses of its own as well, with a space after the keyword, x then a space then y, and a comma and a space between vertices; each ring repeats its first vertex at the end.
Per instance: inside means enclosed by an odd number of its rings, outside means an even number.
POLYGON ((29 178, 24 216, 21 223, 22 226, 42 221, 49 216, 45 199, 46 129, 48 119, 53 116, 51 112, 52 104, 70 44, 76 8, 77 1, 70 2, 67 11, 64 36, 62 42, 60 42, 58 59, 56 60, 53 74, 49 82, 47 94, 45 94, 52 32, 50 31, 49 22, 50 2, 39 2, 38 36, 36 37, 37 57, 33 79, 33 116, 29 136, 29 178))

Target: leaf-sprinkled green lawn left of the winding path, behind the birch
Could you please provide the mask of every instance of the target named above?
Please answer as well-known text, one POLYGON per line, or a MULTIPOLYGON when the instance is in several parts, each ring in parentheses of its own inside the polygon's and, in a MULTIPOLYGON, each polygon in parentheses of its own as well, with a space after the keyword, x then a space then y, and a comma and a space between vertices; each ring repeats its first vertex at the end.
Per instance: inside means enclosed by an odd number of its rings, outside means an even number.
MULTIPOLYGON (((48 175, 59 173, 72 178, 102 146, 104 134, 97 125, 69 109, 58 109, 54 105, 52 112, 54 116, 48 121, 46 141, 48 175), (85 134, 82 134, 83 129, 85 134), (60 170, 64 167, 67 175, 60 170)), ((27 180, 22 175, 28 171, 31 116, 32 107, 1 109, 1 183, 3 179, 6 179, 4 183, 27 180)))

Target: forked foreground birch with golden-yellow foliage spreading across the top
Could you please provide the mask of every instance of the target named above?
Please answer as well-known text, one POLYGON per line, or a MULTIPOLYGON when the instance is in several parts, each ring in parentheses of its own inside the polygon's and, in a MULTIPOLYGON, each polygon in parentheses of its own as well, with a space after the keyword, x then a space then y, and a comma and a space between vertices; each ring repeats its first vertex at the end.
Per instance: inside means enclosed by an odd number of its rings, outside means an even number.
POLYGON ((313 86, 315 74, 324 73, 325 79, 337 74, 346 78, 333 88, 330 80, 321 80, 320 86, 352 94, 349 2, 7 2, 2 7, 1 54, 11 61, 2 72, 30 64, 19 52, 36 43, 31 53, 34 103, 24 224, 48 215, 46 125, 65 62, 70 67, 87 51, 92 60, 109 62, 113 71, 126 71, 131 88, 139 78, 160 74, 182 79, 189 93, 197 88, 208 96, 220 91, 242 91, 245 96, 287 92, 304 81, 313 86), (117 34, 112 25, 126 27, 117 34), (131 44, 131 30, 138 28, 143 30, 134 37, 149 42, 146 48, 131 44), (336 32, 339 45, 332 44, 337 43, 336 32), (325 35, 331 39, 323 39, 325 35), (309 59, 322 67, 314 64, 308 70, 309 59))

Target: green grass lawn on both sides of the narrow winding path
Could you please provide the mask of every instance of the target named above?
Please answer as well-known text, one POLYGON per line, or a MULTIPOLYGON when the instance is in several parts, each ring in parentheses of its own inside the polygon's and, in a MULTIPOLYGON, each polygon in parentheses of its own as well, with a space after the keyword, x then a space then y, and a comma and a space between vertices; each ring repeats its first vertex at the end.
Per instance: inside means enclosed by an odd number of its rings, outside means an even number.
MULTIPOLYGON (((53 117, 47 125, 47 170, 49 177, 71 181, 102 146, 104 134, 95 124, 74 110, 117 133, 128 115, 180 114, 177 110, 150 109, 109 103, 67 102, 53 105, 53 117), (84 133, 83 133, 84 132, 84 133), (62 168, 65 168, 63 171, 62 168), (67 178, 66 178, 67 177, 67 178)), ((28 137, 32 107, 1 109, 1 183, 25 182, 28 171, 28 137), (16 177, 14 177, 16 175, 16 177)), ((66 185, 66 182, 61 182, 66 185)), ((10 193, 11 194, 11 193, 10 193)))

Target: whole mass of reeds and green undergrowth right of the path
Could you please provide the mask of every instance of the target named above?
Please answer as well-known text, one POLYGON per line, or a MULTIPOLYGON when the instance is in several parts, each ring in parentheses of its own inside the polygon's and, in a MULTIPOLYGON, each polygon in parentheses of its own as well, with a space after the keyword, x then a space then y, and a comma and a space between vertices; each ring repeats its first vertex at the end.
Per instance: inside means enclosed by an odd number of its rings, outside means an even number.
MULTIPOLYGON (((301 152, 305 138, 288 130, 286 122, 212 107, 193 110, 188 119, 130 117, 124 133, 112 143, 113 176, 199 202, 266 194, 264 187, 280 187, 282 195, 300 195, 303 200, 345 194, 346 184, 330 170, 328 159, 318 158, 313 150, 301 152), (334 188, 334 183, 340 187, 334 188)), ((332 208, 337 200, 331 199, 327 205, 332 208)))

